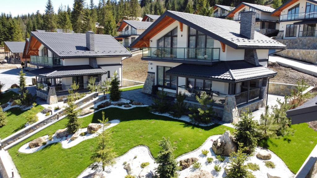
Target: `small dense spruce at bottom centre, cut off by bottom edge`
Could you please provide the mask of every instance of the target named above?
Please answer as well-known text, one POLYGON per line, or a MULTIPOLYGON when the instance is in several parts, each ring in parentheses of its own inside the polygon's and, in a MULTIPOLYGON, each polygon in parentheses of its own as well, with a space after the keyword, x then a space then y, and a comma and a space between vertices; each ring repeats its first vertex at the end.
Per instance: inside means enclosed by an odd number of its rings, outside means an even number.
POLYGON ((159 141, 161 150, 158 156, 155 158, 155 162, 158 164, 155 173, 159 178, 176 178, 178 177, 178 163, 175 160, 174 150, 176 146, 171 144, 170 138, 165 138, 159 141))

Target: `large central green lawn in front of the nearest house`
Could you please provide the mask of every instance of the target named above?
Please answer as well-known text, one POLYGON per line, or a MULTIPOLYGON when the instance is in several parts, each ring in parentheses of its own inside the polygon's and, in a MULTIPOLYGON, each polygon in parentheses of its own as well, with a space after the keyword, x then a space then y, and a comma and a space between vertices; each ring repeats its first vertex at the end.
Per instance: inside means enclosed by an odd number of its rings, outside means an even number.
MULTIPOLYGON (((213 125, 210 127, 197 127, 177 121, 165 116, 155 115, 146 107, 129 110, 119 108, 105 109, 109 120, 120 119, 120 124, 110 128, 113 131, 113 141, 118 156, 138 145, 147 145, 153 156, 159 151, 158 140, 163 136, 171 137, 178 149, 176 156, 197 149, 211 135, 223 134, 232 128, 213 125), (138 114, 136 114, 138 113, 138 114)), ((82 118, 82 127, 91 122, 97 123, 101 118, 101 111, 82 118)), ((89 160, 96 139, 88 139, 69 149, 63 149, 60 143, 51 144, 33 154, 18 153, 18 149, 25 143, 56 130, 65 128, 67 119, 41 130, 32 137, 9 149, 21 177, 77 177, 92 162, 89 160)), ((210 143, 211 145, 211 143, 210 143)))

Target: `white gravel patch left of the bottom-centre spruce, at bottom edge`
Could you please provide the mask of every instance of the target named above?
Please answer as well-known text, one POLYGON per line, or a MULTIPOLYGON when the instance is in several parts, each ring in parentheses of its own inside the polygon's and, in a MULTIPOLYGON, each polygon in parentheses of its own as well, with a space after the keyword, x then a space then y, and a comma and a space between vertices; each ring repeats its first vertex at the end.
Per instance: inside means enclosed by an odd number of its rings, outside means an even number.
MULTIPOLYGON (((124 177, 127 175, 126 169, 124 169, 124 162, 132 163, 132 175, 135 175, 136 177, 139 177, 140 172, 142 171, 141 163, 143 162, 149 162, 150 164, 146 166, 146 168, 149 168, 150 170, 154 170, 154 168, 157 167, 157 164, 154 163, 154 160, 152 156, 149 153, 149 149, 145 146, 138 146, 134 147, 133 149, 130 149, 126 154, 117 157, 116 163, 113 165, 113 167, 106 167, 105 175, 108 178, 118 178, 118 177, 124 177), (134 156, 137 156, 134 159, 134 156)), ((85 169, 81 175, 78 176, 78 178, 82 178, 86 175, 89 175, 91 173, 95 172, 94 170, 91 170, 89 167, 85 169)))

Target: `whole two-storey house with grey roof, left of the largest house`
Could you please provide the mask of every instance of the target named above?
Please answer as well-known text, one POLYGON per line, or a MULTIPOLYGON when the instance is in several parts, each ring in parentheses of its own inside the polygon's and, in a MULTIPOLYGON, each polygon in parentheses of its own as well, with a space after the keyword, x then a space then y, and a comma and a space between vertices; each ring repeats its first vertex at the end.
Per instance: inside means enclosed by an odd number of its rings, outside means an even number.
POLYGON ((117 71, 122 81, 122 60, 132 56, 111 35, 92 31, 31 32, 26 54, 38 67, 28 72, 36 76, 36 94, 49 104, 66 98, 73 82, 79 84, 78 92, 87 92, 90 77, 98 85, 117 71))

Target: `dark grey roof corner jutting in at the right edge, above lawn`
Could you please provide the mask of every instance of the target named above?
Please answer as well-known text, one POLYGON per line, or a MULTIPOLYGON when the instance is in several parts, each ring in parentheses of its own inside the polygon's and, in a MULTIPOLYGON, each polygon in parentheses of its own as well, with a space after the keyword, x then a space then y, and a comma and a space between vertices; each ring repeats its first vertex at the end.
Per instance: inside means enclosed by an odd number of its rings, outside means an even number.
POLYGON ((316 121, 317 115, 317 97, 310 99, 295 109, 286 111, 286 116, 291 118, 292 124, 300 124, 304 122, 316 121))

